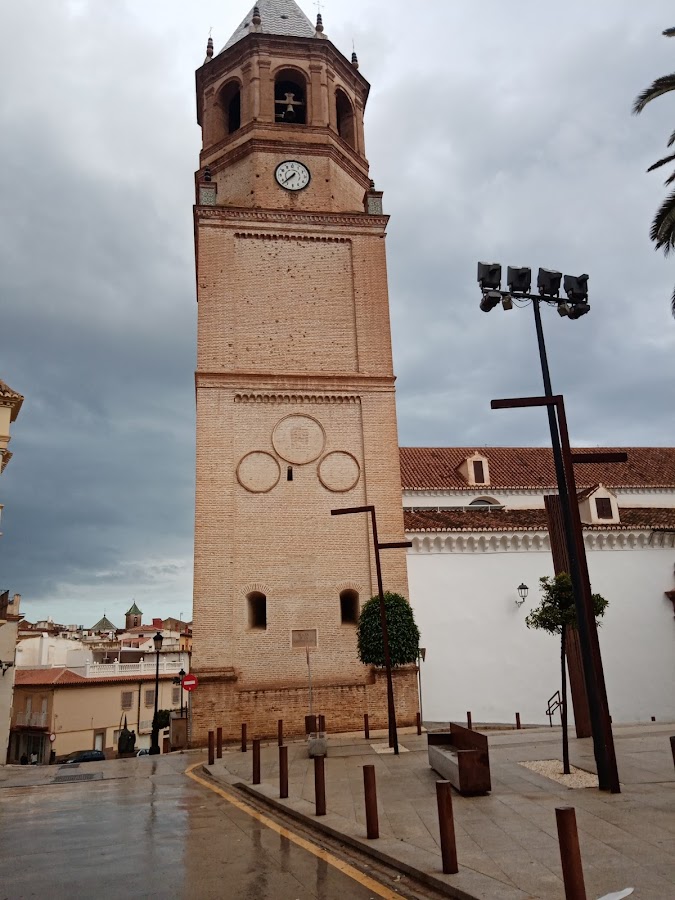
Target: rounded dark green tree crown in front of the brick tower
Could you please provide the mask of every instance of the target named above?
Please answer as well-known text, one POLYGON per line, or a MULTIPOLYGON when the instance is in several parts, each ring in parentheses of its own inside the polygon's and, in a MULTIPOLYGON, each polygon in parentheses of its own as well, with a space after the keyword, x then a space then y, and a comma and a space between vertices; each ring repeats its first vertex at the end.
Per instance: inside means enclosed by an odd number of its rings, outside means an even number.
MULTIPOLYGON (((384 608, 387 615, 389 654, 392 666, 416 663, 419 656, 420 632, 412 607, 400 594, 386 591, 384 608)), ((380 622, 379 595, 364 603, 356 629, 359 659, 370 666, 384 666, 384 644, 380 622)))

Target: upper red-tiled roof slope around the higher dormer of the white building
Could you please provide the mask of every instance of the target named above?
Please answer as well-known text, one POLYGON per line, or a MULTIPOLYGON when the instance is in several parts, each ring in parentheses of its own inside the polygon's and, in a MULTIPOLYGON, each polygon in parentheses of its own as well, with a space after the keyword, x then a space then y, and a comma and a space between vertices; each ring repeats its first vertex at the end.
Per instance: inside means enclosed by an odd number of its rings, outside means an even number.
MULTIPOLYGON (((585 448, 588 449, 588 448, 585 448)), ((603 447, 598 452, 625 451, 625 463, 575 465, 577 487, 602 482, 605 487, 675 488, 675 448, 603 447)), ((555 486, 550 448, 546 447, 401 447, 401 482, 407 491, 466 490, 470 486, 457 471, 476 451, 485 456, 490 484, 471 487, 477 493, 494 490, 540 489, 555 486)))

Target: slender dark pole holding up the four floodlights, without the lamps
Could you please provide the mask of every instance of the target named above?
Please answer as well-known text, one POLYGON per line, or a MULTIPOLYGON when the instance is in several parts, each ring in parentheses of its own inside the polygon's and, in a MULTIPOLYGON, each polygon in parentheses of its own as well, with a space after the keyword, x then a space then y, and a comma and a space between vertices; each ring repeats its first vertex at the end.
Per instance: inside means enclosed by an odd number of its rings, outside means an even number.
MULTIPOLYGON (((551 388, 551 375, 548 368, 548 358, 546 356, 546 344, 544 343, 544 330, 541 324, 541 310, 539 309, 540 300, 533 298, 532 307, 534 309, 534 321, 537 329, 537 343, 539 345, 539 359, 541 361, 541 374, 544 381, 544 395, 546 397, 553 396, 551 388)), ((593 671, 593 660, 591 655, 591 644, 588 633, 586 612, 584 609, 584 585, 579 561, 579 552, 576 541, 574 539, 573 515, 572 515, 572 498, 574 496, 574 506, 576 504, 576 492, 572 495, 573 483, 570 483, 565 477, 565 464, 563 461, 563 453, 560 445, 560 434, 558 431, 558 420, 556 419, 556 411, 553 406, 547 407, 548 424, 551 432, 551 449, 553 451, 553 462, 555 465, 556 481, 558 483, 558 494, 560 496, 560 506, 563 519, 563 530, 565 532, 565 543, 567 545, 567 555, 570 561, 570 578, 572 580, 572 589, 574 592, 574 602, 577 610, 577 620, 579 623, 579 642, 581 645, 581 657, 584 670, 584 680, 586 682, 586 694, 588 696, 588 708, 591 719, 591 730, 593 732, 593 753, 595 755, 595 764, 598 769, 598 782, 601 790, 609 788, 609 771, 606 753, 604 752, 604 738, 602 734, 602 726, 600 722, 600 702, 598 697, 598 688, 593 671)), ((560 410, 558 410, 558 414, 560 410)))

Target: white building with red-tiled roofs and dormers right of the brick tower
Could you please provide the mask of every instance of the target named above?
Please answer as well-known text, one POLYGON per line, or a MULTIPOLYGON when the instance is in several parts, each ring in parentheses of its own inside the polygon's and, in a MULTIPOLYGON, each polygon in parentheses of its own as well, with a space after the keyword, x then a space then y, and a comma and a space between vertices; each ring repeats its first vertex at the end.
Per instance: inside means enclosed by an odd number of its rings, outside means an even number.
MULTIPOLYGON (((675 720, 675 449, 575 466, 588 568, 609 606, 599 631, 614 722, 675 720)), ((528 630, 553 575, 541 448, 402 448, 410 601, 426 648, 426 721, 547 723, 559 642, 528 630), (529 594, 519 605, 518 586, 529 594)), ((570 704, 571 710, 571 704, 570 704)))

